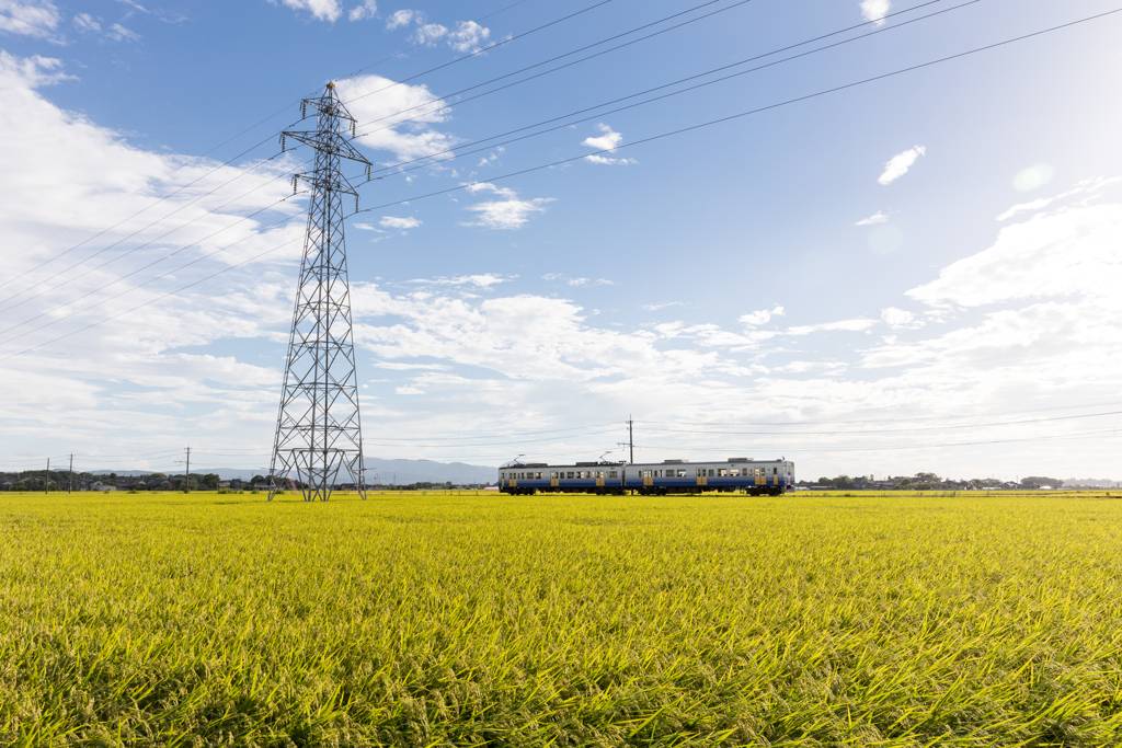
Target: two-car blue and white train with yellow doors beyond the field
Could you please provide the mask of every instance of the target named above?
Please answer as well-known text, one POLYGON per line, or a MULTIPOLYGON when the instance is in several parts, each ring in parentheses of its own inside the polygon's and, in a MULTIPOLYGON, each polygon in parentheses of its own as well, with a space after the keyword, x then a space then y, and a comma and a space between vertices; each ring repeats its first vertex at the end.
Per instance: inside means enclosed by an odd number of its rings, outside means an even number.
POLYGON ((517 460, 498 469, 499 491, 531 493, 600 493, 645 496, 745 491, 780 496, 794 490, 794 463, 779 460, 729 458, 721 462, 663 460, 657 463, 577 462, 551 465, 517 460))

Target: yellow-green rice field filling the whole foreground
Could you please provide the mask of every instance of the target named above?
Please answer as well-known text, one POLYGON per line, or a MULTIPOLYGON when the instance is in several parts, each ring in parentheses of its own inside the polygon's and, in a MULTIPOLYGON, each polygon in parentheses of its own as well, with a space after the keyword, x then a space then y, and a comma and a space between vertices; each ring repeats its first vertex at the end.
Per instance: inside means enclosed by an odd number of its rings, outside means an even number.
POLYGON ((1118 746, 1122 497, 0 495, 4 746, 1118 746))

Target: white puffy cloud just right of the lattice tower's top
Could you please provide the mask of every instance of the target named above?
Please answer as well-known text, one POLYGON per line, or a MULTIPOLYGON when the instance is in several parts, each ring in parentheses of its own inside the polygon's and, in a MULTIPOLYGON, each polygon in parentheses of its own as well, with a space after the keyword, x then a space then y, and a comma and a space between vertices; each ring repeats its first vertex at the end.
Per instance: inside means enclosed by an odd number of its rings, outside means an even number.
MULTIPOLYGON (((337 83, 340 98, 351 116, 358 120, 358 140, 364 148, 388 150, 397 160, 420 158, 433 153, 450 150, 457 138, 433 129, 445 121, 444 105, 423 85, 395 85, 380 75, 359 75, 337 83), (410 110, 402 118, 405 124, 395 124, 398 112, 410 110)), ((451 156, 451 154, 448 154, 451 156)))

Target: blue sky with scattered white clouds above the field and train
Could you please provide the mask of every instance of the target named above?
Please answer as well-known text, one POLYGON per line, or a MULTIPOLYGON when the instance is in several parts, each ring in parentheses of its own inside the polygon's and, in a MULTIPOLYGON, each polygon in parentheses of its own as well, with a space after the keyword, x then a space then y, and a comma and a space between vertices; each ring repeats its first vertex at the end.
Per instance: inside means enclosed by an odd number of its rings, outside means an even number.
POLYGON ((1122 13, 629 145, 1111 10, 0 1, 0 467, 267 467, 307 158, 276 133, 334 80, 362 207, 407 201, 347 227, 367 454, 595 459, 633 416, 644 460, 1116 477, 1122 13))

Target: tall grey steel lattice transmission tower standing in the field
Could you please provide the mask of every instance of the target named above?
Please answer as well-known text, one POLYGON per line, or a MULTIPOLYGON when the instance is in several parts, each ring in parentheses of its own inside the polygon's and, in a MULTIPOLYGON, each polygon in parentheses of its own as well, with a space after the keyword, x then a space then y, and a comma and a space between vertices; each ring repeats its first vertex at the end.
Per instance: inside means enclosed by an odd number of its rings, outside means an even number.
POLYGON ((315 150, 315 169, 293 177, 311 187, 307 233, 300 266, 296 308, 288 339, 288 358, 280 391, 280 412, 269 468, 269 500, 293 472, 306 484, 305 501, 327 501, 340 469, 366 499, 362 428, 359 425, 358 376, 351 325, 347 248, 343 243, 343 195, 358 193, 340 172, 344 159, 370 163, 347 138, 355 131, 333 83, 319 99, 305 99, 303 110, 319 112, 316 129, 284 132, 315 150), (344 126, 346 130, 340 131, 344 126))

